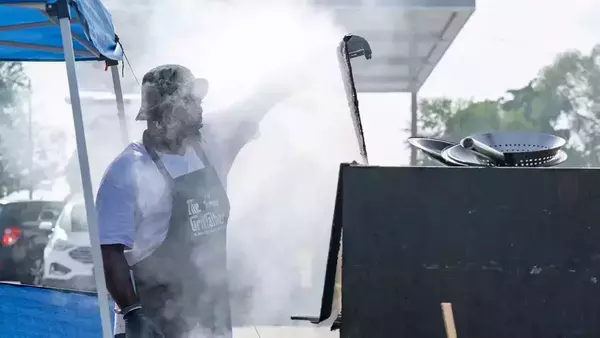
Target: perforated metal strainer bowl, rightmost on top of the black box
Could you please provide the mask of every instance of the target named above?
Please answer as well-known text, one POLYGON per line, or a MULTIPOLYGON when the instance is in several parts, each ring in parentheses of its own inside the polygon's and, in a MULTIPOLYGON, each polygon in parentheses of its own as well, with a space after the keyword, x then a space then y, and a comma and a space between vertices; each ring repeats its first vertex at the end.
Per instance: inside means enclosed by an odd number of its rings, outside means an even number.
POLYGON ((566 144, 565 139, 544 133, 491 132, 469 136, 504 155, 498 166, 537 167, 552 161, 566 144))

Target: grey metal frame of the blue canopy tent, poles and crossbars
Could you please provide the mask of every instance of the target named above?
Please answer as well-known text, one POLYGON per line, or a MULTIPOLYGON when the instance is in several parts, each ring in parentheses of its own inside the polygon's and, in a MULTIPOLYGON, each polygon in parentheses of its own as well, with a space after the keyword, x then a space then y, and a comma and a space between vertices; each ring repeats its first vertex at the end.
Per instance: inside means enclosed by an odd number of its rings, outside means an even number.
MULTIPOLYGON (((77 154, 79 158, 79 168, 81 173, 81 182, 83 188, 83 197, 85 201, 85 210, 87 213, 87 221, 89 227, 90 243, 92 246, 92 258, 94 263, 94 279, 96 282, 96 290, 98 296, 98 306, 100 308, 100 319, 102 323, 102 337, 112 338, 113 329, 111 325, 111 309, 108 302, 108 292, 106 289, 106 280, 104 277, 104 266, 102 260, 102 252, 100 250, 100 238, 98 233, 98 219, 96 208, 94 205, 94 195, 92 190, 92 181, 90 175, 90 166, 88 152, 85 140, 85 128, 83 123, 83 115, 81 109, 81 100, 79 97, 79 84, 77 81, 77 72, 75 70, 75 49, 73 40, 80 43, 85 51, 77 51, 77 55, 83 57, 94 57, 98 61, 105 61, 106 65, 111 68, 113 86, 117 101, 118 118, 120 122, 121 137, 124 144, 129 142, 127 124, 125 121, 125 109, 123 101, 123 91, 119 77, 118 61, 109 60, 98 51, 84 38, 73 34, 71 24, 77 23, 77 20, 71 20, 71 0, 57 0, 55 3, 46 3, 45 6, 41 3, 14 3, 11 6, 36 9, 47 19, 47 23, 36 24, 19 24, 0 28, 2 31, 19 30, 34 27, 43 27, 50 25, 59 25, 61 31, 63 48, 42 46, 37 44, 26 44, 12 41, 0 41, 0 46, 17 47, 29 50, 39 50, 55 53, 63 53, 64 61, 67 70, 67 79, 69 83, 69 95, 71 98, 71 109, 73 112, 73 125, 75 128, 75 139, 77 144, 77 154)), ((23 60, 8 60, 5 61, 23 61, 23 60)), ((36 60, 26 60, 36 61, 36 60)))

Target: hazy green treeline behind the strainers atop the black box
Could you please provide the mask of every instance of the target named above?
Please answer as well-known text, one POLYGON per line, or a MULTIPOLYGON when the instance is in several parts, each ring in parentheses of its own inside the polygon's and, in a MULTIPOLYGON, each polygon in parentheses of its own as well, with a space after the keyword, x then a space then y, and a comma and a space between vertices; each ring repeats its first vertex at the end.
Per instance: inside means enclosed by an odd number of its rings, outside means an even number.
MULTIPOLYGON (((524 130, 568 140, 569 166, 600 166, 600 45, 568 51, 507 97, 484 101, 424 99, 417 125, 423 136, 454 141, 469 134, 524 130)), ((419 154, 421 164, 431 164, 419 154)))

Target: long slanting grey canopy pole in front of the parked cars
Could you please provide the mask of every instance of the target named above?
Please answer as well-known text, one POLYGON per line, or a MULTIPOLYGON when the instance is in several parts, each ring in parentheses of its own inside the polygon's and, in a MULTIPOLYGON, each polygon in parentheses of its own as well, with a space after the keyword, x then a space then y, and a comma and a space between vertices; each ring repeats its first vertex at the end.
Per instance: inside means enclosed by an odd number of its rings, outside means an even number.
MULTIPOLYGON (((67 1, 58 1, 58 17, 60 22, 60 33, 62 37, 65 64, 67 67, 67 78, 69 80, 69 94, 71 97, 71 108, 73 110, 73 124, 75 127, 75 139, 77 141, 77 153, 79 157, 79 168, 81 171, 81 183, 83 186, 83 197, 85 200, 85 211, 92 244, 92 258, 94 260, 94 277, 98 292, 98 306, 100 307, 100 319, 102 321, 102 337, 112 338, 111 311, 108 306, 108 292, 104 279, 104 268, 102 253, 100 251, 100 239, 98 235, 98 224, 96 208, 94 207, 94 195, 92 192, 92 179, 88 154, 85 144, 85 129, 81 115, 81 102, 79 98, 79 86, 77 84, 77 73, 75 71, 75 52, 71 35, 71 23, 69 18, 69 5, 67 1)), ((74 318, 77 320, 77 318, 74 318)))

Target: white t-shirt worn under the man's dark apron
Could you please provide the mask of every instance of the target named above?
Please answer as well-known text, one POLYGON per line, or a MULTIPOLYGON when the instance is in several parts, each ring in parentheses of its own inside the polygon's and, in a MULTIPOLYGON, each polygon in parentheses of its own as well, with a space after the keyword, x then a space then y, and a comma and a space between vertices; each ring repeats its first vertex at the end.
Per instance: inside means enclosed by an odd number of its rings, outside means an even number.
MULTIPOLYGON (((201 146, 224 187, 240 149, 256 132, 252 123, 205 120, 201 146), (218 131, 218 132, 217 132, 218 131)), ((231 121, 231 120, 229 120, 231 121)), ((190 146, 184 155, 158 154, 173 177, 203 168, 190 146)), ((141 142, 131 143, 107 168, 96 197, 100 244, 123 244, 133 265, 165 239, 171 217, 171 191, 141 142)))

